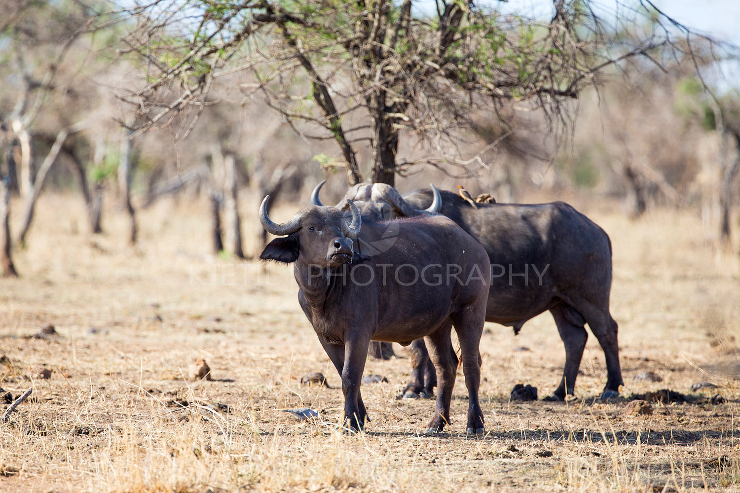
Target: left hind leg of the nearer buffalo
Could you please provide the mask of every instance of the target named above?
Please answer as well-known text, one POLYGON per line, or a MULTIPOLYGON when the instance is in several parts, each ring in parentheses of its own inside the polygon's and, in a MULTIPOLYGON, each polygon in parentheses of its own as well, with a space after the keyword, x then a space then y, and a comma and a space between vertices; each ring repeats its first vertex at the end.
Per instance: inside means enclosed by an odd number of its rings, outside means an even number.
POLYGON ((437 401, 434 417, 427 426, 427 433, 438 433, 450 422, 450 401, 457 373, 457 355, 450 339, 451 320, 445 320, 440 328, 426 336, 429 356, 437 370, 437 401))

